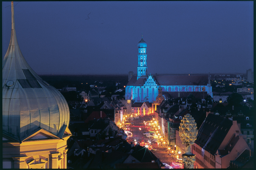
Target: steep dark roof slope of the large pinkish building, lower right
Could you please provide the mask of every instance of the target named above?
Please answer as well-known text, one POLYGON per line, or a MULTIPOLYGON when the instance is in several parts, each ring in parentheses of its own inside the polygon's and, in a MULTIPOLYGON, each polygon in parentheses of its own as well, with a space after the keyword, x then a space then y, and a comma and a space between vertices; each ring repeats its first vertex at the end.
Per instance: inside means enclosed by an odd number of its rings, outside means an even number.
POLYGON ((233 121, 209 114, 198 130, 195 143, 211 154, 217 152, 233 121))

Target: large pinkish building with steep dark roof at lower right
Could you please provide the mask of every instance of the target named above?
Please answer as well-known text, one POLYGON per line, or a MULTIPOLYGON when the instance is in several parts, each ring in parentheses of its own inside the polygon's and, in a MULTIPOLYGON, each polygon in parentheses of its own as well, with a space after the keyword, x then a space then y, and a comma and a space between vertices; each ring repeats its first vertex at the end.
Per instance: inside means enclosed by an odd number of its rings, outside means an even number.
POLYGON ((209 114, 191 147, 196 155, 195 168, 228 168, 245 149, 250 149, 237 124, 209 114))

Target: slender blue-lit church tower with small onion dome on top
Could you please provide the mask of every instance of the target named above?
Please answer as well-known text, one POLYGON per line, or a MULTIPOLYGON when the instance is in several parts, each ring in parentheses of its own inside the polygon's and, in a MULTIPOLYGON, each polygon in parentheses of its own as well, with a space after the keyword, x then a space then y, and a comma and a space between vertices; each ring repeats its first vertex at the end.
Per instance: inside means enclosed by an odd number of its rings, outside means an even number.
POLYGON ((147 43, 143 40, 143 35, 141 38, 141 41, 138 43, 138 66, 137 66, 137 80, 140 77, 146 77, 148 75, 147 73, 147 43))

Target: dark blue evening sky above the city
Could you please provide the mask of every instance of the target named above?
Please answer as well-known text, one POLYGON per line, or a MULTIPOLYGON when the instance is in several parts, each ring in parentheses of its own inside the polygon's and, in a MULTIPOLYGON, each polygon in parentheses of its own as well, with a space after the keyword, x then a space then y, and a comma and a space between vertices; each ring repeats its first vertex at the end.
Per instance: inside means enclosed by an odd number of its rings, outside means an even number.
MULTIPOLYGON (((9 5, 2 2, 3 57, 11 36, 9 5)), ((22 1, 14 5, 19 47, 37 74, 137 74, 142 32, 148 73, 253 69, 253 1, 22 1)))

